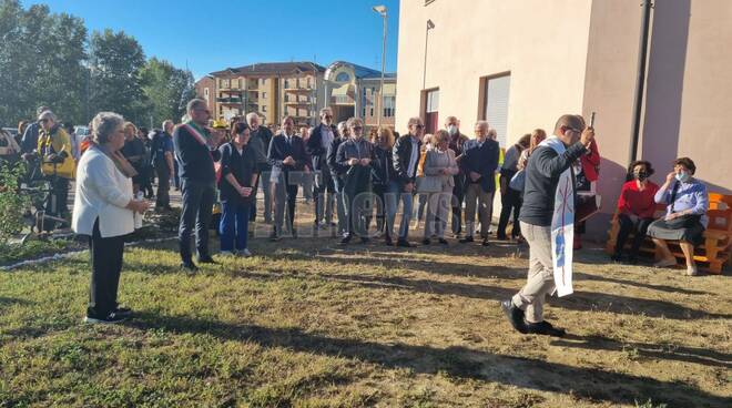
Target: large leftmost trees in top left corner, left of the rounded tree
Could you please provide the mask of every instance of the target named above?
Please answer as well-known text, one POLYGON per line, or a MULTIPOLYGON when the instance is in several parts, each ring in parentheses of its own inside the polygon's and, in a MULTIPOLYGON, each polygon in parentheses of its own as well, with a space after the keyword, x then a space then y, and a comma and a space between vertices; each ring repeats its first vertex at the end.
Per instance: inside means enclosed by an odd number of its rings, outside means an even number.
POLYGON ((63 121, 84 123, 87 28, 48 6, 23 10, 0 0, 0 123, 13 125, 50 105, 63 121))

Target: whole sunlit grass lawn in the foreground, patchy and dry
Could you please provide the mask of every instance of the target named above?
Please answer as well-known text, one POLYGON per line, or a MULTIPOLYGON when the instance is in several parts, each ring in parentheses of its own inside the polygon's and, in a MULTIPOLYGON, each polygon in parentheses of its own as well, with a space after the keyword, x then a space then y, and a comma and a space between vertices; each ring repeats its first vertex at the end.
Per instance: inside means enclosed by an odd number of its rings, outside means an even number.
POLYGON ((0 273, 0 407, 732 406, 729 276, 584 249, 555 339, 498 307, 526 278, 510 244, 257 238, 193 276, 174 247, 126 248, 119 326, 81 324, 88 254, 0 273))

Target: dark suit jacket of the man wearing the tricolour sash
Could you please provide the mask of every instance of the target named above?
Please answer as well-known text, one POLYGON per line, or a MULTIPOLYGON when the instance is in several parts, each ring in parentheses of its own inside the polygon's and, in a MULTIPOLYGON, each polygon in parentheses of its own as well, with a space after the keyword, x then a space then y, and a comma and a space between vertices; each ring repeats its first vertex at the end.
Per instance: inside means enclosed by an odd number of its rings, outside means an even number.
MULTIPOLYGON (((189 125, 193 126, 193 124, 189 125)), ((200 130, 200 132, 205 137, 211 137, 205 130, 200 130)), ((201 183, 216 183, 213 164, 221 159, 218 150, 209 150, 207 145, 199 142, 183 125, 175 128, 173 145, 181 178, 201 183)))

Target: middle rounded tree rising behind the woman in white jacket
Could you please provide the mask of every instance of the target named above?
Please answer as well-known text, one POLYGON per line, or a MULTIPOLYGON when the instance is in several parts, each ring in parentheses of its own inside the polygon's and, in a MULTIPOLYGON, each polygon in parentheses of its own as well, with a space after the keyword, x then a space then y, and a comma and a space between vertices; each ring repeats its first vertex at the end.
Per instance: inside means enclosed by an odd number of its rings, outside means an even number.
POLYGON ((145 119, 144 64, 144 52, 134 38, 110 29, 94 32, 90 41, 93 112, 113 111, 135 123, 145 119))

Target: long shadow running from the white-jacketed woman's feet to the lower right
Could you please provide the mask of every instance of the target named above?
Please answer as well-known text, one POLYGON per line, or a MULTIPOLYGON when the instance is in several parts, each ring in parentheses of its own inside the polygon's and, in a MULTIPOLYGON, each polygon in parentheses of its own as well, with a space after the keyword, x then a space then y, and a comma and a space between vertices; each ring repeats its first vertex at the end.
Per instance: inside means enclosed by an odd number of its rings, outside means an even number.
POLYGON ((613 404, 633 404, 649 397, 657 402, 668 401, 674 406, 725 407, 729 404, 726 398, 681 381, 663 382, 648 377, 489 354, 466 347, 387 345, 332 338, 297 328, 233 325, 151 313, 141 313, 139 318, 126 325, 142 330, 163 329, 176 334, 210 335, 222 340, 253 341, 262 347, 350 358, 386 368, 407 368, 417 374, 445 374, 454 378, 499 382, 542 391, 571 392, 578 397, 613 404))

